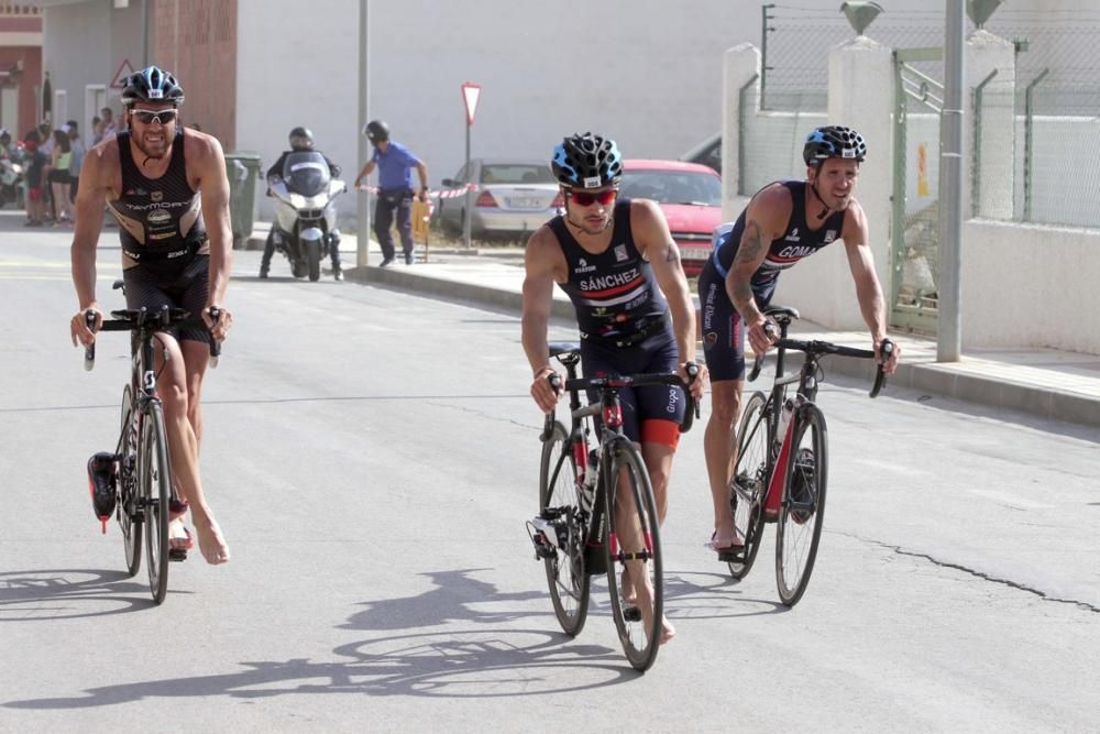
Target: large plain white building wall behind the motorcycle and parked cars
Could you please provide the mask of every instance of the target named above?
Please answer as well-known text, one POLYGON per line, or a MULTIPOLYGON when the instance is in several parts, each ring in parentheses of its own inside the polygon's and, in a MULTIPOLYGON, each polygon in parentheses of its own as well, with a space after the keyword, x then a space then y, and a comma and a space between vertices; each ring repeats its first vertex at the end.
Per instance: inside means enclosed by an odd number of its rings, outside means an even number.
MULTIPOLYGON (((297 0, 239 0, 239 150, 270 164, 304 124, 354 176, 358 8, 311 0, 307 19, 297 0)), ((432 186, 462 165, 466 80, 482 85, 474 156, 549 160, 562 136, 593 130, 628 157, 676 157, 719 129, 722 54, 758 41, 759 18, 748 0, 691 12, 662 0, 372 0, 371 116, 424 158, 432 186)))

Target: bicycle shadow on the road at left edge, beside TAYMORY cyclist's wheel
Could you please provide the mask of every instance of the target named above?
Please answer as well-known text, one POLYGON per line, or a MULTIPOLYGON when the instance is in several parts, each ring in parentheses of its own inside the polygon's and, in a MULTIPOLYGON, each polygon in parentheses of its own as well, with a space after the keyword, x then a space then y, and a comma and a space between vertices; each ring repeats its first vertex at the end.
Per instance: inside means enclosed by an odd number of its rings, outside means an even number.
POLYGON ((142 574, 98 569, 0 573, 0 623, 78 620, 156 606, 143 581, 142 574))

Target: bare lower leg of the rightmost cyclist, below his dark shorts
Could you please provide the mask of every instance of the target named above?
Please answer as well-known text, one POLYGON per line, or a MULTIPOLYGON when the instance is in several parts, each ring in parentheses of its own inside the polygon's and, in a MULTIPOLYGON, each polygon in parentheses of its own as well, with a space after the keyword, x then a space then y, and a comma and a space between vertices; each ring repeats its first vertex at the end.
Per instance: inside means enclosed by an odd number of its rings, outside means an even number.
POLYGON ((734 532, 734 515, 729 510, 729 480, 737 461, 737 416, 741 410, 743 380, 711 383, 711 418, 703 435, 706 473, 714 502, 714 538, 716 548, 740 545, 734 532))

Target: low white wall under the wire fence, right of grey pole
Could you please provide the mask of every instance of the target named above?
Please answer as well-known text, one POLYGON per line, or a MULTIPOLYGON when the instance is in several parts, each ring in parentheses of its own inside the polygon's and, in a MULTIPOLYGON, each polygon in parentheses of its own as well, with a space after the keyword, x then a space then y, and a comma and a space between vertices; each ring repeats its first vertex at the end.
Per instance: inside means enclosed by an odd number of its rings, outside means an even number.
POLYGON ((1100 230, 963 226, 963 347, 1100 354, 1100 230))

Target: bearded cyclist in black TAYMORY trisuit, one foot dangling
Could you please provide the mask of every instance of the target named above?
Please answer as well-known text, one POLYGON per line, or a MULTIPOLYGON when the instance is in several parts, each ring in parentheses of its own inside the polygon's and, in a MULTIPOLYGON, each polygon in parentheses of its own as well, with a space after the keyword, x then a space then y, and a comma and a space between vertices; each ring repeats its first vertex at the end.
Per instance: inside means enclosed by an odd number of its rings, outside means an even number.
POLYGON ((95 313, 97 329, 102 322, 96 300, 96 248, 106 205, 119 221, 127 307, 184 308, 201 314, 209 327, 157 335, 164 349, 164 357, 157 355, 157 393, 174 480, 186 501, 172 508, 169 545, 176 551, 191 546, 184 526, 189 506, 204 558, 224 563, 229 546, 199 478, 199 401, 210 338, 221 341, 232 324, 222 305, 232 265, 229 180, 218 140, 179 124, 183 102, 184 90, 167 72, 150 66, 134 73, 122 90, 127 129, 88 151, 73 233, 73 283, 80 308, 69 328, 74 344, 90 344, 96 335, 85 314, 95 313), (217 321, 210 318, 211 307, 220 309, 217 321))

